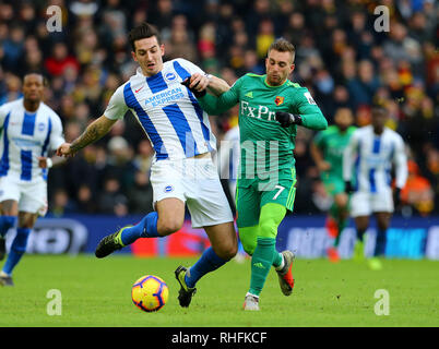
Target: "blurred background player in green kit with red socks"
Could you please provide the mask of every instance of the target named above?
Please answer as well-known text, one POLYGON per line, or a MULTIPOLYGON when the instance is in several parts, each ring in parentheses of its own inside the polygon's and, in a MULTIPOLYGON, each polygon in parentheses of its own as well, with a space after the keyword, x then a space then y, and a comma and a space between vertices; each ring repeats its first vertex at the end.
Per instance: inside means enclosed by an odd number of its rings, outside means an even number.
POLYGON ((333 197, 330 208, 327 229, 334 238, 333 246, 328 249, 331 262, 339 262, 339 242, 343 229, 349 218, 349 197, 344 191, 343 181, 343 152, 349 142, 355 127, 354 117, 349 108, 340 108, 334 116, 335 124, 319 132, 310 145, 310 154, 320 171, 321 180, 327 192, 333 197))

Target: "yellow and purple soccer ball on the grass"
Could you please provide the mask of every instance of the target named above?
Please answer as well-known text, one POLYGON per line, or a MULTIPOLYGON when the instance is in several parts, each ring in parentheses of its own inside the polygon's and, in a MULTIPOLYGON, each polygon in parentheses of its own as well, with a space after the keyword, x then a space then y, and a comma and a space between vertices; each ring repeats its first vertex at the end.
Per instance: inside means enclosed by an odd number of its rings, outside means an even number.
POLYGON ((131 289, 135 306, 150 313, 161 310, 168 301, 169 289, 158 276, 145 275, 138 279, 131 289))

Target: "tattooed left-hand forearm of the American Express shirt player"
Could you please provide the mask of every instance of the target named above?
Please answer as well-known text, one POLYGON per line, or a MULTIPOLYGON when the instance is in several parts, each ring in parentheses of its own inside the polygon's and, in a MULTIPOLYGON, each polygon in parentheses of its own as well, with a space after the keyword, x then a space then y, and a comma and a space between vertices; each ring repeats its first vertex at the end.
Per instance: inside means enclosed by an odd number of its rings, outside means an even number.
POLYGON ((57 149, 58 156, 72 157, 80 149, 87 146, 88 144, 100 140, 116 123, 116 120, 108 119, 106 116, 93 121, 86 130, 72 143, 63 143, 57 149))

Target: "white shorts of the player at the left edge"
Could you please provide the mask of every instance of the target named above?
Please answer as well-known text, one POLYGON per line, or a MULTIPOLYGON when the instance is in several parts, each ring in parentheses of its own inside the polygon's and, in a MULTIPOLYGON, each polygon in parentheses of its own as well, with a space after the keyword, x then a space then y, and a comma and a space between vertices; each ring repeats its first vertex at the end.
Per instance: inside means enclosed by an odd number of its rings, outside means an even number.
POLYGON ((19 212, 45 216, 47 213, 47 182, 40 178, 21 181, 15 176, 0 177, 0 202, 13 200, 19 203, 19 212))

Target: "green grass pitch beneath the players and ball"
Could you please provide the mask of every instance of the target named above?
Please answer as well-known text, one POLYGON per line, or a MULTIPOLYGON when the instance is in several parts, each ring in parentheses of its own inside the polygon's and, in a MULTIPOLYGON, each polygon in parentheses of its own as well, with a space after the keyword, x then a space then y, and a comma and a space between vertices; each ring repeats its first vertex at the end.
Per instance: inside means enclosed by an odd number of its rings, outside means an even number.
POLYGON ((385 260, 380 272, 353 261, 296 260, 296 286, 281 293, 271 270, 260 312, 244 312, 250 261, 229 262, 198 284, 189 309, 177 301, 175 268, 195 258, 135 258, 116 255, 25 255, 15 287, 0 287, 0 327, 8 326, 439 326, 439 263, 385 260), (153 274, 169 286, 169 300, 157 313, 144 313, 131 301, 131 286, 153 274), (48 291, 61 292, 61 315, 48 315, 48 291), (375 292, 389 292, 389 315, 375 313, 375 292))

